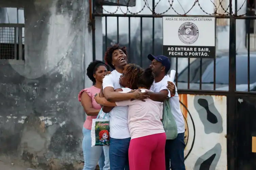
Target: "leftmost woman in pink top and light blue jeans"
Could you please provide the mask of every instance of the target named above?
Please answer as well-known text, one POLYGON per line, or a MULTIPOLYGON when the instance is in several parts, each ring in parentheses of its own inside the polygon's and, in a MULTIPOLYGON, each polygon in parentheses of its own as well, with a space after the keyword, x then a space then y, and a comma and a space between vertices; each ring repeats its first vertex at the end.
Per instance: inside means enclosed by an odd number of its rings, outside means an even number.
POLYGON ((101 108, 101 106, 96 103, 93 97, 96 93, 100 92, 100 88, 102 86, 102 78, 104 73, 107 73, 107 68, 108 67, 102 61, 95 60, 94 62, 91 62, 87 68, 87 76, 95 83, 95 85, 90 88, 81 90, 78 94, 78 100, 81 102, 87 115, 83 126, 84 138, 82 146, 85 160, 83 170, 94 170, 98 162, 100 170, 110 170, 108 147, 91 147, 92 119, 97 117, 101 108))

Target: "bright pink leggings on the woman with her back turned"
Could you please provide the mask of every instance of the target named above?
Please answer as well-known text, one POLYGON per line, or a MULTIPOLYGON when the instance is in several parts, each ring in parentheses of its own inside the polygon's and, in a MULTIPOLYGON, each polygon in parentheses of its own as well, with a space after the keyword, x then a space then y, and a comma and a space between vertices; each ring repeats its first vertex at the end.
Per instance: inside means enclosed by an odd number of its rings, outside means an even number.
POLYGON ((132 139, 129 146, 130 170, 165 170, 165 141, 165 133, 132 139))

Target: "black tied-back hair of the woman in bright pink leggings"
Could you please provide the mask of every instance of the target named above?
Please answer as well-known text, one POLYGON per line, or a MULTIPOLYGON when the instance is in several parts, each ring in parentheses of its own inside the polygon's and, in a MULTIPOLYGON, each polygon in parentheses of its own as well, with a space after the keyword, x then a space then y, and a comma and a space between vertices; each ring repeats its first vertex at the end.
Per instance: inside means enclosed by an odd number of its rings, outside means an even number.
POLYGON ((139 76, 137 86, 149 89, 154 82, 154 75, 151 68, 147 68, 139 76))

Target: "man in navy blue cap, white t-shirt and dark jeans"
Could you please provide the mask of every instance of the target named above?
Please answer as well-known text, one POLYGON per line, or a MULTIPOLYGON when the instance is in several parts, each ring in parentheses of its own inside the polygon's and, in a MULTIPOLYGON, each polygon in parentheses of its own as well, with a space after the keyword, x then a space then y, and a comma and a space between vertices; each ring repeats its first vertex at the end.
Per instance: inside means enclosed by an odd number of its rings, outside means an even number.
POLYGON ((153 56, 148 55, 151 65, 150 68, 154 72, 154 82, 151 87, 153 92, 163 92, 168 90, 168 97, 170 98, 171 113, 175 118, 178 130, 178 136, 174 140, 166 140, 165 144, 165 166, 166 170, 185 170, 184 164, 184 132, 185 123, 182 112, 180 110, 179 95, 177 88, 173 82, 169 82, 167 88, 167 82, 170 77, 167 75, 170 70, 171 63, 168 57, 164 55, 153 56))

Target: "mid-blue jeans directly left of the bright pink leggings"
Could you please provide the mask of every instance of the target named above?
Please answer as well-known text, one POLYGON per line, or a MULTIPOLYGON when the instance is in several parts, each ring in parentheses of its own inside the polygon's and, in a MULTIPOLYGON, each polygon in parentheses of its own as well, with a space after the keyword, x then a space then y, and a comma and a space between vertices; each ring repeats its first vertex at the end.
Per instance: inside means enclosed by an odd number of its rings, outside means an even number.
POLYGON ((131 138, 110 138, 109 161, 111 170, 129 170, 128 150, 131 138))

